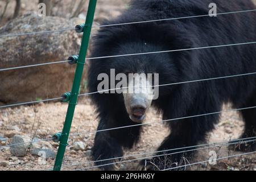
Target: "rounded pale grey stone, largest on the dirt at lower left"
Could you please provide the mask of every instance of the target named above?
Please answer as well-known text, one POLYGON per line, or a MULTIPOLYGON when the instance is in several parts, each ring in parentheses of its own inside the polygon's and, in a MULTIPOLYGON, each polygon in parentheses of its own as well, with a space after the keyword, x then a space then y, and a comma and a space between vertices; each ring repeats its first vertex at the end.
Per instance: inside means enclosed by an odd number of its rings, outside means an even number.
POLYGON ((15 135, 13 137, 13 140, 11 144, 16 144, 14 146, 10 146, 10 151, 12 155, 15 156, 26 156, 28 147, 30 147, 29 143, 31 142, 31 138, 27 136, 22 136, 22 135, 15 135), (22 144, 17 144, 17 143, 22 143, 22 144))

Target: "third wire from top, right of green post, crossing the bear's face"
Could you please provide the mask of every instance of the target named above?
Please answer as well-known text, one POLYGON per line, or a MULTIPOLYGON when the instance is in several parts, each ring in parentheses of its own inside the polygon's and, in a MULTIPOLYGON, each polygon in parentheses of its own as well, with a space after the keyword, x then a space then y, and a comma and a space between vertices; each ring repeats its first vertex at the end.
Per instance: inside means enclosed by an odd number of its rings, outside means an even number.
POLYGON ((174 83, 170 83, 170 84, 162 84, 162 85, 153 85, 153 86, 126 86, 126 87, 122 87, 122 88, 116 88, 116 89, 106 89, 106 90, 102 90, 102 91, 98 91, 98 92, 90 92, 90 93, 84 93, 84 94, 79 94, 79 96, 89 96, 92 94, 96 94, 96 93, 104 93, 104 92, 109 92, 112 90, 121 90, 121 89, 129 89, 129 88, 148 88, 148 87, 160 87, 160 86, 170 86, 170 85, 179 85, 179 84, 188 84, 188 83, 192 83, 192 82, 200 82, 200 81, 210 81, 210 80, 220 80, 220 79, 224 79, 224 78, 233 78, 233 77, 240 77, 240 76, 250 76, 250 75, 256 75, 256 72, 252 72, 252 73, 245 73, 245 74, 238 74, 238 75, 230 75, 230 76, 222 76, 222 77, 215 77, 215 78, 205 78, 205 79, 201 79, 201 80, 191 80, 191 81, 182 81, 182 82, 174 82, 174 83))

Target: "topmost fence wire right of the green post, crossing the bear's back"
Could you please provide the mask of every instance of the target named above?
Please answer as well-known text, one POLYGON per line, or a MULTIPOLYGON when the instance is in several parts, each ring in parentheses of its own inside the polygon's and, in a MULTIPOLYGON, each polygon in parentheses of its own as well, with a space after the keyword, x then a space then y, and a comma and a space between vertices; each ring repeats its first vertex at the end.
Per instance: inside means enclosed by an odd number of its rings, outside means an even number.
MULTIPOLYGON (((226 14, 236 14, 236 13, 249 13, 256 11, 255 9, 253 10, 243 10, 243 11, 231 11, 231 12, 226 12, 226 13, 217 13, 213 15, 226 15, 226 14)), ((138 24, 138 23, 150 23, 150 22, 160 22, 160 21, 167 21, 167 20, 177 20, 177 19, 187 19, 187 18, 200 18, 200 17, 205 17, 209 16, 209 14, 206 15, 195 15, 195 16, 183 16, 183 17, 178 17, 178 18, 166 18, 166 19, 155 19, 155 20, 146 20, 146 21, 140 21, 140 22, 128 22, 128 23, 116 23, 116 24, 102 24, 100 26, 93 26, 93 28, 98 28, 98 27, 111 27, 111 26, 121 26, 121 25, 126 25, 126 24, 138 24)))

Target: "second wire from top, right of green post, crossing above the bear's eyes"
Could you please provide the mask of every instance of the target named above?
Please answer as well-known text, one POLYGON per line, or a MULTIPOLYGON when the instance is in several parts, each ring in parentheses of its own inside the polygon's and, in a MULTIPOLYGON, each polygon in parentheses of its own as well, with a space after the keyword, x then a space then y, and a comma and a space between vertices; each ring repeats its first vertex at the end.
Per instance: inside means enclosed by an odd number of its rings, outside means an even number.
POLYGON ((125 54, 125 55, 115 55, 115 56, 89 57, 89 58, 86 58, 86 60, 104 59, 104 58, 110 58, 110 57, 150 55, 150 54, 154 54, 154 53, 192 51, 192 50, 197 50, 197 49, 208 49, 208 48, 218 48, 218 47, 242 46, 242 45, 255 44, 255 43, 256 42, 246 42, 246 43, 236 43, 236 44, 225 44, 225 45, 219 45, 219 46, 206 46, 206 47, 195 47, 195 48, 186 48, 186 49, 174 49, 174 50, 168 50, 168 51, 155 51, 155 52, 143 52, 143 53, 129 53, 129 54, 125 54))

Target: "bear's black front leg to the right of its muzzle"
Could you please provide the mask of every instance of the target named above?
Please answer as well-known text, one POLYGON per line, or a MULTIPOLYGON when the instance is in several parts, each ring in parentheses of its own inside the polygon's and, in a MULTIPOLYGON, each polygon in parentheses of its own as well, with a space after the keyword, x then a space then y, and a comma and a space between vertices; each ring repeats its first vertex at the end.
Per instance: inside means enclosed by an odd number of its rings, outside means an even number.
MULTIPOLYGON (((195 115, 195 114, 189 114, 195 115)), ((205 142, 207 133, 214 129, 218 114, 203 117, 192 117, 179 121, 171 121, 171 134, 164 140, 155 153, 155 157, 144 160, 142 169, 146 170, 185 170, 199 142, 205 142)), ((188 167, 187 167, 188 166, 188 167)))

